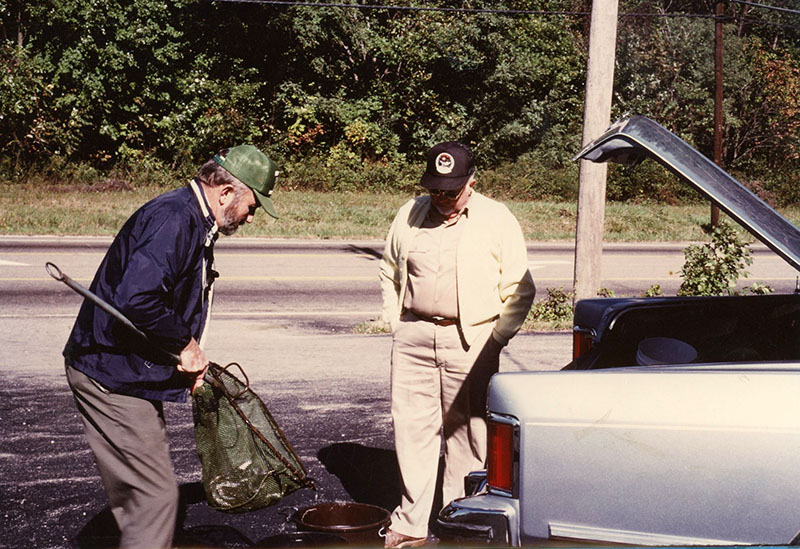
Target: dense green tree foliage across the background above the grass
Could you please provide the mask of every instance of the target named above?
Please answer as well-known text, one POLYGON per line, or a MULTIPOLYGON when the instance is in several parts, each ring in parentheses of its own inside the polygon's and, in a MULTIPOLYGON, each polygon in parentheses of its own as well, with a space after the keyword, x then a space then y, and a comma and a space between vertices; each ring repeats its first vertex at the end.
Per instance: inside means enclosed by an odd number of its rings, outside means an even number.
MULTIPOLYGON (((483 167, 535 170, 544 193, 509 184, 526 195, 572 192, 562 181, 580 145, 591 2, 394 4, 538 13, 0 0, 0 167, 181 166, 250 141, 348 186, 458 139, 483 167)), ((614 95, 615 115, 650 116, 709 156, 713 8, 620 0, 614 95)), ((726 10, 725 164, 798 201, 800 33, 781 13, 726 10)), ((609 195, 678 196, 665 181, 612 172, 609 195)))

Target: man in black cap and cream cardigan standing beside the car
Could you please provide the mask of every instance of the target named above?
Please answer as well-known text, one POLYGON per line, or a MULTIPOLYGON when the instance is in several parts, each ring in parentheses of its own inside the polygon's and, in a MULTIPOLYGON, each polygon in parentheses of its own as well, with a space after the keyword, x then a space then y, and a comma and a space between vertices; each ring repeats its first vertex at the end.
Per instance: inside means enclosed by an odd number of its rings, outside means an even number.
POLYGON ((445 504, 463 496, 467 473, 484 467, 489 378, 536 292, 519 223, 474 190, 468 147, 433 147, 421 184, 428 195, 400 208, 380 265, 403 481, 386 547, 426 542, 442 433, 445 504))

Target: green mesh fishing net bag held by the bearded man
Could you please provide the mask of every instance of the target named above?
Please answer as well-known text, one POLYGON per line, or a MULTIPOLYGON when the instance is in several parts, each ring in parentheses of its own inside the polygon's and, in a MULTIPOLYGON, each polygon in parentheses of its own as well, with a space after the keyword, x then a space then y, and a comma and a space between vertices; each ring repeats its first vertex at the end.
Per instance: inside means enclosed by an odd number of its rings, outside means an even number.
POLYGON ((192 395, 195 442, 209 505, 239 513, 314 484, 267 407, 236 363, 211 364, 192 395), (239 368, 240 381, 228 372, 239 368))

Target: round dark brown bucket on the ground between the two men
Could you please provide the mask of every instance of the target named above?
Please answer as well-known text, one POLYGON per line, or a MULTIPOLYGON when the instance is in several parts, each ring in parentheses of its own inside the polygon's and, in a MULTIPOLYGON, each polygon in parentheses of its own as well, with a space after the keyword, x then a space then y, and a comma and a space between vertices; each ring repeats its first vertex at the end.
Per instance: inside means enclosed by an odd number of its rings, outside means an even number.
POLYGON ((319 503, 298 510, 293 519, 302 530, 342 536, 349 544, 379 544, 381 528, 389 525, 389 511, 366 503, 319 503))

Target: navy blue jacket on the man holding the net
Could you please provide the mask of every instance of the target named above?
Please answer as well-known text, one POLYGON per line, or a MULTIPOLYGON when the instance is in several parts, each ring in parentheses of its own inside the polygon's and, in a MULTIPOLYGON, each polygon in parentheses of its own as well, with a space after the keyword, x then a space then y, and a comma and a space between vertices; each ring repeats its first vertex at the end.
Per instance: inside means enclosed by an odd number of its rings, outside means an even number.
MULTIPOLYGON (((215 220, 199 185, 162 194, 128 219, 90 290, 157 346, 178 355, 192 337, 200 340, 205 327, 216 276, 215 238, 215 220)), ((189 379, 169 358, 89 300, 81 306, 64 357, 118 393, 175 402, 188 394, 189 379)))

